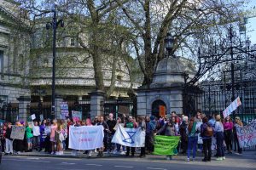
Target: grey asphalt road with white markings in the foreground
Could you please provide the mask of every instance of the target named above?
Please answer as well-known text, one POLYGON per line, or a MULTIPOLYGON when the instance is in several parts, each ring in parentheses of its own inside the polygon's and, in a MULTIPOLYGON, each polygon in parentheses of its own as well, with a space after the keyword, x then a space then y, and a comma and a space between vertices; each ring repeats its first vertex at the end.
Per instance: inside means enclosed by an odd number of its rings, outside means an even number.
POLYGON ((154 158, 55 158, 55 157, 25 157, 4 156, 0 170, 113 170, 113 169, 137 169, 137 170, 255 170, 256 159, 235 157, 225 161, 202 162, 201 158, 196 161, 183 161, 183 157, 174 157, 166 161, 164 157, 154 158))

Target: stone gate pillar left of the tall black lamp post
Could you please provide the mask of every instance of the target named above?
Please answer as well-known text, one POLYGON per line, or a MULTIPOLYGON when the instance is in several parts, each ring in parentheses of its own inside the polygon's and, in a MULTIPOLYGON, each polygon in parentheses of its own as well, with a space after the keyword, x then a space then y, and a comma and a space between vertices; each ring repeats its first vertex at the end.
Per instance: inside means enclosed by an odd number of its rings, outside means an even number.
POLYGON ((30 105, 30 96, 20 96, 19 100, 19 120, 26 121, 28 113, 26 111, 27 105, 30 105))

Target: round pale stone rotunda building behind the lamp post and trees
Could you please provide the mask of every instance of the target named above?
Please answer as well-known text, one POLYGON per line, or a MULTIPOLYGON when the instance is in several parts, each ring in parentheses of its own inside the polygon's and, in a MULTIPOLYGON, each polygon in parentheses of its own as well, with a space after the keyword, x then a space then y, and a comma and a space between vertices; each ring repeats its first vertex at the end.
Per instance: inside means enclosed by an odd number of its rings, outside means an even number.
MULTIPOLYGON (((38 112, 38 105, 43 107, 43 111, 40 112, 43 112, 42 114, 47 117, 49 117, 51 105, 52 30, 46 30, 45 24, 50 20, 52 19, 38 20, 38 24, 35 26, 35 32, 32 34, 30 67, 31 106, 34 108, 34 112, 38 112)), ((64 21, 68 22, 68 19, 64 21)), ((84 43, 87 43, 86 39, 84 43)), ((131 83, 131 72, 129 69, 131 69, 132 62, 135 61, 129 56, 102 54, 102 72, 106 91, 108 91, 111 85, 112 77, 115 78, 115 88, 108 96, 108 99, 127 99, 129 97, 127 95, 128 89, 137 88, 137 83, 131 83), (114 74, 112 72, 113 62, 115 62, 116 66, 114 74)), ((75 103, 86 104, 88 107, 91 106, 90 93, 96 89, 94 76, 93 60, 90 54, 80 45, 77 37, 73 37, 65 29, 58 28, 55 78, 55 94, 57 95, 55 98, 55 108, 60 108, 58 104, 61 101, 67 101, 70 107, 75 107, 75 103)), ((100 97, 99 99, 103 100, 104 98, 100 97)), ((99 105, 98 103, 97 107, 100 107, 99 105)), ((90 107, 87 110, 90 110, 87 111, 88 113, 92 109, 90 107)), ((60 114, 59 109, 55 110, 55 112, 57 115, 60 114)))

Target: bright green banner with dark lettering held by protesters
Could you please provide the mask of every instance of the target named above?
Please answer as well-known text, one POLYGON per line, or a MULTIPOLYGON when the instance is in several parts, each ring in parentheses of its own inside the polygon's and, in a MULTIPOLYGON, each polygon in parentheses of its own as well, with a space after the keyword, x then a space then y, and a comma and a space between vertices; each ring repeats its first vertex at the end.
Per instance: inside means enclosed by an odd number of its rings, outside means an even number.
POLYGON ((154 155, 175 155, 179 140, 179 136, 154 136, 154 155))

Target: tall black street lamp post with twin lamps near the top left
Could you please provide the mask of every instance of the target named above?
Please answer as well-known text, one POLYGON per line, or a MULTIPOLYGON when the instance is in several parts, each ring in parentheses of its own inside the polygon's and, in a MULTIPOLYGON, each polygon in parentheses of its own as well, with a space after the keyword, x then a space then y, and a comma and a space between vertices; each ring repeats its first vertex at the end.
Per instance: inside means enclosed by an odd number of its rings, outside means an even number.
POLYGON ((55 58, 56 58, 56 32, 57 27, 61 26, 64 27, 64 21, 58 20, 57 21, 57 4, 55 3, 52 8, 52 12, 54 14, 52 22, 48 22, 46 24, 46 29, 49 30, 50 27, 53 29, 53 43, 52 43, 52 84, 51 84, 51 118, 55 118, 55 58))

